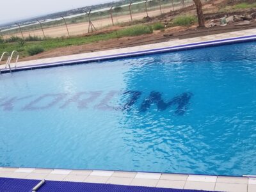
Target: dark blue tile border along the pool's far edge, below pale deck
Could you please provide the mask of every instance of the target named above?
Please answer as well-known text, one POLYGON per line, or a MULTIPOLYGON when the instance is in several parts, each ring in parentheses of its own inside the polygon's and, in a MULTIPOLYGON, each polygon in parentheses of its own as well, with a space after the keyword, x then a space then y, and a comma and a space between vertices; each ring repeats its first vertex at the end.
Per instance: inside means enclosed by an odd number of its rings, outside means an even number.
MULTIPOLYGON (((244 42, 253 42, 256 41, 256 35, 250 36, 240 36, 236 38, 226 38, 221 40, 212 40, 207 42, 199 42, 194 44, 185 44, 185 45, 177 45, 171 47, 163 47, 157 49, 147 49, 143 51, 134 51, 134 52, 126 52, 120 54, 111 54, 106 56, 99 56, 99 57, 92 57, 92 58, 84 58, 84 59, 77 59, 77 60, 66 60, 66 61, 58 61, 52 63, 42 63, 38 65, 28 65, 24 67, 17 67, 13 68, 12 72, 19 72, 22 70, 33 70, 38 68, 49 68, 49 67, 59 67, 64 65, 76 65, 81 63, 90 63, 95 61, 106 61, 106 60, 116 60, 119 58, 131 58, 136 56, 145 56, 148 54, 159 54, 161 52, 175 52, 175 51, 185 51, 190 49, 199 49, 203 47, 214 47, 220 45, 228 45, 228 44, 238 44, 244 42)), ((117 49, 118 51, 118 49, 117 49)), ((1 70, 3 74, 10 73, 9 69, 1 70)))

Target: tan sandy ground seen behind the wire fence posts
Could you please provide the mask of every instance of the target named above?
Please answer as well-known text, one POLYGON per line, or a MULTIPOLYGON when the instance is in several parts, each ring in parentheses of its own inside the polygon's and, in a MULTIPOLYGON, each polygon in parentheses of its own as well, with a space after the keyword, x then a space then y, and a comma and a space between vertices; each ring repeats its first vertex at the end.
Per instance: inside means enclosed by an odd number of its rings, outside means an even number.
MULTIPOLYGON (((187 5, 189 5, 189 4, 187 4, 187 5)), ((182 6, 175 6, 175 10, 179 10, 180 8, 182 8, 182 6)), ((172 10, 172 4, 170 4, 170 7, 163 8, 162 13, 168 13, 171 10, 172 10)), ((160 10, 148 11, 149 17, 155 17, 157 15, 161 15, 160 10)), ((147 16, 146 12, 134 13, 134 14, 132 14, 132 20, 141 20, 146 16, 147 16)), ((113 21, 116 24, 122 23, 122 22, 130 22, 131 17, 130 17, 130 15, 122 15, 122 16, 118 16, 118 17, 113 17, 113 21)), ((94 20, 93 25, 95 26, 96 29, 102 29, 106 26, 111 26, 112 25, 111 17, 109 16, 109 18, 106 18, 106 19, 94 20)), ((69 24, 68 31, 71 36, 83 35, 85 33, 88 33, 88 22, 79 23, 79 24, 69 24)), ((51 37, 68 36, 67 29, 65 26, 46 28, 46 29, 44 29, 44 33, 45 33, 45 36, 51 36, 51 37)), ((21 37, 20 33, 13 34, 13 35, 21 37)), ((42 30, 26 31, 26 32, 23 32, 23 35, 24 36, 29 36, 29 35, 34 36, 35 35, 35 36, 43 37, 42 30)), ((8 35, 4 36, 4 38, 8 38, 8 37, 9 37, 8 35)))

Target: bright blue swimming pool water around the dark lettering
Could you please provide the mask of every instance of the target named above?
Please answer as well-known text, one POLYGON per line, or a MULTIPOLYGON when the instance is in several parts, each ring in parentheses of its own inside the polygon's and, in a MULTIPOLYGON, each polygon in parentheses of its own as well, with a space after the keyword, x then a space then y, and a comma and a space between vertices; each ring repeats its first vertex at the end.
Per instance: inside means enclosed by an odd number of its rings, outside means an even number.
POLYGON ((0 166, 256 174, 255 43, 4 74, 0 90, 0 166), (141 96, 120 110, 127 91, 141 96), (100 95, 86 108, 61 108, 79 92, 100 95), (177 106, 141 111, 150 92, 164 102, 182 93, 191 99, 183 115, 177 106), (24 109, 55 93, 67 95, 24 109))

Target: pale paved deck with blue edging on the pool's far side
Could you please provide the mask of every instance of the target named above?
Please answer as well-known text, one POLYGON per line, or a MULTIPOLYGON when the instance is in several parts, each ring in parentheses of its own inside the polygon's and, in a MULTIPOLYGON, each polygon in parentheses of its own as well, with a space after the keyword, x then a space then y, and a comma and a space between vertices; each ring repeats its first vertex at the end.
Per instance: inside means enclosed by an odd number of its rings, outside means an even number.
MULTIPOLYGON (((145 54, 154 53, 156 51, 159 52, 159 49, 161 49, 161 51, 164 52, 166 51, 167 47, 168 47, 168 50, 171 50, 171 51, 180 50, 180 47, 177 47, 177 46, 183 46, 186 49, 191 49, 195 47, 195 45, 191 45, 191 44, 200 44, 202 42, 209 42, 209 41, 216 41, 216 40, 218 41, 218 40, 223 40, 227 38, 237 38, 237 37, 252 36, 252 35, 256 35, 256 29, 234 31, 234 32, 222 33, 217 35, 200 36, 196 38, 188 38, 188 39, 182 39, 182 40, 175 39, 175 40, 170 40, 168 42, 162 42, 157 44, 140 45, 136 47, 112 49, 112 50, 99 51, 99 52, 87 52, 83 54, 74 54, 74 55, 61 56, 56 58, 20 61, 17 64, 17 68, 32 69, 32 68, 36 68, 36 66, 37 67, 40 66, 40 68, 42 68, 42 67, 65 65, 65 63, 76 64, 81 62, 83 63, 83 61, 84 62, 99 61, 102 58, 108 59, 108 58, 118 58, 120 56, 134 56, 134 55, 138 55, 138 52, 140 52, 140 54, 141 52, 145 54)), ((234 41, 234 40, 230 40, 230 41, 234 41)), ((211 44, 216 44, 216 42, 205 43, 203 44, 203 47, 211 44)), ((14 69, 13 63, 11 64, 11 67, 14 69)), ((4 70, 4 68, 5 68, 5 65, 0 65, 0 70, 4 70)))

